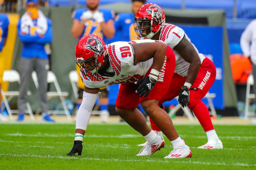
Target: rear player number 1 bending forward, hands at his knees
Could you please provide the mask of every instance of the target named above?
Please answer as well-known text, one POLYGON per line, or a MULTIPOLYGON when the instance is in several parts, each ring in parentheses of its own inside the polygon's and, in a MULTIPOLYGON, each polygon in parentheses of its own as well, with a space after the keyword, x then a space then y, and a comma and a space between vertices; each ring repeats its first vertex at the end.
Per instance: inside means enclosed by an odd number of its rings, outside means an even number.
MULTIPOLYGON (((223 145, 213 128, 209 110, 201 101, 216 78, 213 62, 198 52, 181 28, 165 24, 163 9, 154 3, 147 3, 138 10, 135 16, 135 31, 142 39, 165 42, 175 53, 175 73, 168 95, 163 97, 159 104, 179 96, 178 102, 182 107, 188 106, 193 110, 208 137, 208 142, 198 148, 222 149, 223 145)), ((160 131, 152 119, 150 124, 153 130, 160 131)))

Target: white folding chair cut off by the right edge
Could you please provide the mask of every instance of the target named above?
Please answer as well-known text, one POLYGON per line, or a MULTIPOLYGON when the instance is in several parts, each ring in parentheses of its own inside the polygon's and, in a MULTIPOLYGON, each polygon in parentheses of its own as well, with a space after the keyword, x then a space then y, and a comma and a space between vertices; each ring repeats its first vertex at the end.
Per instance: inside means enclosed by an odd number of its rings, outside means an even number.
POLYGON ((255 94, 250 93, 251 85, 254 85, 253 75, 249 75, 249 77, 247 78, 244 119, 248 119, 249 116, 253 116, 255 114, 254 112, 249 111, 249 105, 250 105, 251 99, 255 98, 255 94))

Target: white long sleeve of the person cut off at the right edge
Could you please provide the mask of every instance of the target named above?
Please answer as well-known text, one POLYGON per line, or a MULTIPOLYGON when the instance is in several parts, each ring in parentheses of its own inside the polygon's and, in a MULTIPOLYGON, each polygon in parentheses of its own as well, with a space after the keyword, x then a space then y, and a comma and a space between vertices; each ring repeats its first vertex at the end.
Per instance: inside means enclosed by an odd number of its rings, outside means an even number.
POLYGON ((253 34, 253 25, 256 25, 256 22, 251 22, 249 25, 246 27, 244 32, 242 33, 241 39, 240 39, 240 46, 241 49, 247 57, 251 55, 251 50, 250 50, 250 43, 252 39, 252 34, 253 34))

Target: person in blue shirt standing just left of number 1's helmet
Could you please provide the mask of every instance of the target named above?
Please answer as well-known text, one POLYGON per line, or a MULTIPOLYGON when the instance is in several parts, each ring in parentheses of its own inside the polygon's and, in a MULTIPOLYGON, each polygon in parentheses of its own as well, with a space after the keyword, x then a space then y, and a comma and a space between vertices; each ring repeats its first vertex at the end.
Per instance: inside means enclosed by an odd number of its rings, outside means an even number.
POLYGON ((137 40, 137 34, 134 31, 133 21, 138 9, 146 2, 146 0, 131 0, 131 13, 119 13, 115 18, 116 35, 112 39, 116 41, 132 41, 137 40))

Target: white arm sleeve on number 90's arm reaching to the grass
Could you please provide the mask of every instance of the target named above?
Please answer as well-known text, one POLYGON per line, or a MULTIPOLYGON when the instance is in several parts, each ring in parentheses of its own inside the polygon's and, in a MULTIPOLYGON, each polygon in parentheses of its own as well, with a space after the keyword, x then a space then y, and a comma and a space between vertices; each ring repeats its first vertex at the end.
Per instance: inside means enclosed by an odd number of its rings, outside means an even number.
POLYGON ((98 94, 99 93, 93 94, 83 92, 83 100, 76 117, 76 129, 83 129, 86 131, 98 94))

